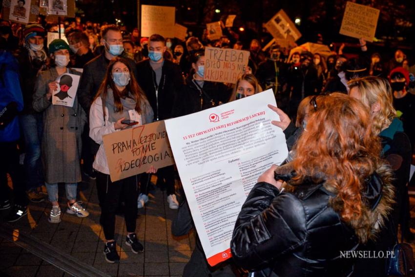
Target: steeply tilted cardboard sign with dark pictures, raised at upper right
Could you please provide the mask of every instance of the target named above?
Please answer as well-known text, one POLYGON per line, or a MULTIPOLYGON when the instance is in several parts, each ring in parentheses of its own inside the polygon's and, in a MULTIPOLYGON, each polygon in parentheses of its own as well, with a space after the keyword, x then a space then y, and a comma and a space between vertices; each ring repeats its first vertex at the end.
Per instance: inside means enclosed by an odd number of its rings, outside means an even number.
POLYGON ((301 38, 300 31, 282 9, 265 24, 265 27, 275 40, 296 41, 301 38))

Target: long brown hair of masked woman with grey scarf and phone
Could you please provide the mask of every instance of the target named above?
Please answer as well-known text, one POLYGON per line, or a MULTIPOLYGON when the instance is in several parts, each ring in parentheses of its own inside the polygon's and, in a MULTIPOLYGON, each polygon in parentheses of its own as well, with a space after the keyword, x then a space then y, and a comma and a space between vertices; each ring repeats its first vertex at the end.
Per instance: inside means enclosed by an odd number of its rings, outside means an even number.
POLYGON ((143 90, 138 85, 134 77, 134 74, 131 71, 131 67, 129 66, 126 59, 115 57, 114 59, 110 60, 108 67, 106 69, 105 78, 103 82, 101 83, 100 89, 98 90, 98 93, 95 96, 95 99, 97 99, 98 97, 101 97, 105 101, 108 95, 108 87, 111 88, 113 95, 114 95, 114 105, 115 105, 114 112, 117 112, 117 113, 123 112, 123 104, 121 103, 120 99, 122 97, 129 97, 135 100, 136 102, 135 110, 137 111, 137 113, 139 114, 141 113, 141 103, 142 101, 145 101, 146 97, 145 97, 143 90), (128 68, 128 71, 130 72, 130 81, 125 86, 124 91, 119 91, 117 87, 115 86, 114 81, 112 80, 111 70, 116 62, 124 63, 125 66, 128 68))

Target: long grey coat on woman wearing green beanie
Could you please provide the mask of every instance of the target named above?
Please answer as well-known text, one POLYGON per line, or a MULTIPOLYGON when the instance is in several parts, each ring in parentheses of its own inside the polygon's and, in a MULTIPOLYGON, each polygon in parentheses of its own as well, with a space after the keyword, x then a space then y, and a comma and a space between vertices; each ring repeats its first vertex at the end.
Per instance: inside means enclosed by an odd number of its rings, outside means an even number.
MULTIPOLYGON (((81 73, 69 69, 70 74, 81 73)), ((86 114, 75 97, 73 107, 52 105, 46 98, 48 83, 58 78, 55 67, 38 74, 33 108, 43 112, 42 162, 47 183, 77 183, 81 175, 81 134, 86 114)))

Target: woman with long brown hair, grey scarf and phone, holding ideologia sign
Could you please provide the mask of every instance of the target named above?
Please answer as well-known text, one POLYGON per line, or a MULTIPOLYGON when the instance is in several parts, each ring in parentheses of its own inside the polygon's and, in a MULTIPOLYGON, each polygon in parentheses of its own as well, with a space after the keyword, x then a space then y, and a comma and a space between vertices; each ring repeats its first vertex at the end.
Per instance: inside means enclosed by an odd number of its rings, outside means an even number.
MULTIPOLYGON (((126 59, 114 58, 108 64, 104 81, 91 105, 89 112, 89 136, 100 144, 93 168, 97 171, 98 199, 101 206, 100 223, 104 229, 105 259, 118 262, 120 256, 114 241, 115 212, 121 195, 125 201, 125 244, 132 252, 144 251, 135 234, 137 218, 137 198, 139 175, 111 182, 108 161, 105 156, 103 136, 118 132, 133 125, 143 125, 153 121, 153 110, 138 85, 126 59)), ((156 173, 151 167, 147 173, 156 173)))

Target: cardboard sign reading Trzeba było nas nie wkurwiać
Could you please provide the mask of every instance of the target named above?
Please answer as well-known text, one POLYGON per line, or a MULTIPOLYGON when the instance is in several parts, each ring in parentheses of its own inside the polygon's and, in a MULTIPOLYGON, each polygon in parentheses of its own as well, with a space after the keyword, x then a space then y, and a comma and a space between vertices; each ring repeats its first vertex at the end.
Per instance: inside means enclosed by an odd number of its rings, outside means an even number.
POLYGON ((248 61, 249 51, 206 47, 203 79, 234 84, 245 73, 248 61))

